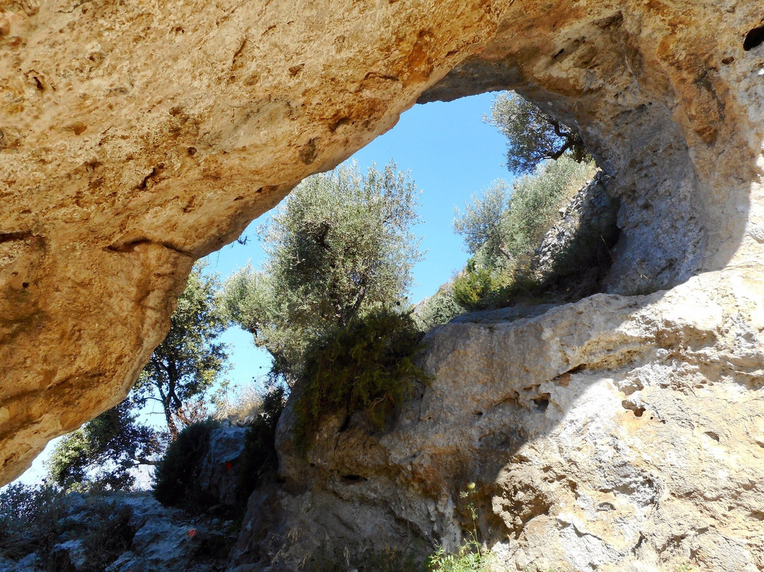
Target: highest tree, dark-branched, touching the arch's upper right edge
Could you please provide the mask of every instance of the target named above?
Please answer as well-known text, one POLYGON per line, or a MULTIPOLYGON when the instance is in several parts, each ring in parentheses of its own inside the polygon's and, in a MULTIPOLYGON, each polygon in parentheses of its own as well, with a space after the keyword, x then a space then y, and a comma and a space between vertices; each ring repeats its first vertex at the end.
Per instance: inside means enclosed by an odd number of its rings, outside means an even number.
POLYGON ((577 130, 516 93, 497 96, 490 119, 484 120, 507 137, 507 167, 514 173, 532 173, 542 161, 565 155, 578 162, 591 160, 577 130))

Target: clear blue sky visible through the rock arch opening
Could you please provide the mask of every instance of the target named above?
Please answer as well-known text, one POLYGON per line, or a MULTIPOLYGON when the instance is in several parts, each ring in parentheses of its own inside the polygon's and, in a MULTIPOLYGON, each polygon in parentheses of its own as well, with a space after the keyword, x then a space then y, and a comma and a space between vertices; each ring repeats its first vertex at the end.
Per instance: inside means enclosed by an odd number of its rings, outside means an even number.
MULTIPOLYGON (((511 180, 505 161, 506 139, 496 128, 483 122, 490 112, 495 94, 482 94, 454 102, 433 102, 414 106, 400 117, 389 132, 372 141, 353 155, 362 170, 377 163, 383 167, 391 158, 400 170, 410 171, 419 197, 422 225, 415 232, 422 236, 426 258, 413 269, 416 285, 411 300, 417 302, 434 294, 441 284, 460 270, 468 254, 460 236, 452 230, 454 206, 463 206, 473 193, 480 193, 498 179, 511 180)), ((264 258, 255 229, 268 214, 254 220, 244 231, 246 245, 234 243, 207 257, 208 271, 225 279, 251 261, 259 265, 264 258)), ((244 385, 261 380, 270 368, 267 352, 254 347, 252 336, 244 330, 230 328, 223 335, 229 345, 231 385, 244 385)), ((158 409, 156 411, 158 413, 158 409)), ((160 415, 147 412, 147 421, 159 421, 160 415)), ((23 483, 34 483, 44 474, 46 453, 35 460, 23 483)))

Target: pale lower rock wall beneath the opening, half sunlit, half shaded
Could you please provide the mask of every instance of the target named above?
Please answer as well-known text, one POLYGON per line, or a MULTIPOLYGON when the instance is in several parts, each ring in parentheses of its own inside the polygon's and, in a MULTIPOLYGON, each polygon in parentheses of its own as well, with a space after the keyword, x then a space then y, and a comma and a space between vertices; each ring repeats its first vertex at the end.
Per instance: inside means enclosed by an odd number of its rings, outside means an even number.
POLYGON ((287 409, 285 483, 252 497, 231 570, 455 550, 470 503, 501 570, 764 567, 759 271, 467 315, 426 341, 434 381, 388 431, 335 419, 303 459, 287 409))

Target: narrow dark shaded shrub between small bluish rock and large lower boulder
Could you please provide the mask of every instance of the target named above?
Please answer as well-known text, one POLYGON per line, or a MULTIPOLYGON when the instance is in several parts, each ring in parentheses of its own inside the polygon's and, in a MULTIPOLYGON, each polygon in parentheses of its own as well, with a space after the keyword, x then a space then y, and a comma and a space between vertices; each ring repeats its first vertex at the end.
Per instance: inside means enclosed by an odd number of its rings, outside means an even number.
POLYGON ((281 386, 271 388, 264 395, 260 414, 244 433, 244 453, 241 455, 241 483, 239 498, 246 505, 251 492, 261 486, 278 468, 276 453, 276 425, 281 417, 285 400, 281 386))

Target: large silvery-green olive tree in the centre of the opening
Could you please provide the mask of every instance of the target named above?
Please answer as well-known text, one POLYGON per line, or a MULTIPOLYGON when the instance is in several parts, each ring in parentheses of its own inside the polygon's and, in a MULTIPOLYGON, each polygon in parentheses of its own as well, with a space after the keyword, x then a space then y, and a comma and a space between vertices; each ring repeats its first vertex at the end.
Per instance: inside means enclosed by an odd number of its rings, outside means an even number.
POLYGON ((421 258, 416 186, 394 163, 361 174, 355 164, 303 180, 259 229, 261 271, 242 268, 220 304, 295 382, 312 343, 377 307, 403 303, 421 258))

